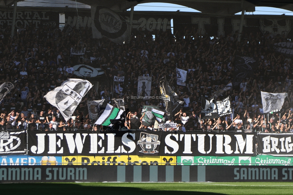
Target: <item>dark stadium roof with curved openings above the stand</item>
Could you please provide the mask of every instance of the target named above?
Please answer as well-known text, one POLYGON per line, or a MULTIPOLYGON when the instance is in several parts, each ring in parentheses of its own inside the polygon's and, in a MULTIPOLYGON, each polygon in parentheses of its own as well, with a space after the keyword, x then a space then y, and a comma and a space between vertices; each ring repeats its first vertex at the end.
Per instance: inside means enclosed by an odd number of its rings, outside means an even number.
MULTIPOLYGON (((179 4, 201 11, 203 14, 227 16, 246 10, 254 11, 255 6, 278 7, 293 11, 291 0, 77 0, 79 8, 90 8, 91 5, 99 7, 111 7, 117 12, 125 11, 140 3, 162 2, 179 4), (137 2, 138 1, 138 2, 137 2)), ((0 0, 0 6, 11 6, 14 1, 0 0)), ((40 7, 76 7, 75 1, 70 0, 25 0, 19 1, 21 6, 40 7)))

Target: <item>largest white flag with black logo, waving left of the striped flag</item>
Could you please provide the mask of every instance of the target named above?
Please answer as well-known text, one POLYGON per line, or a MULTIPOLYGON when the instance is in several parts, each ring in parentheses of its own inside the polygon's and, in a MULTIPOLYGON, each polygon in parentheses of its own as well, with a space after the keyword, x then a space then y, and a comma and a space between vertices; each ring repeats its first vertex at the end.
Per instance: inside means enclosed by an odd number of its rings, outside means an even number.
POLYGON ((87 80, 68 79, 60 87, 49 91, 44 98, 57 107, 67 121, 90 88, 92 88, 92 84, 87 80))

